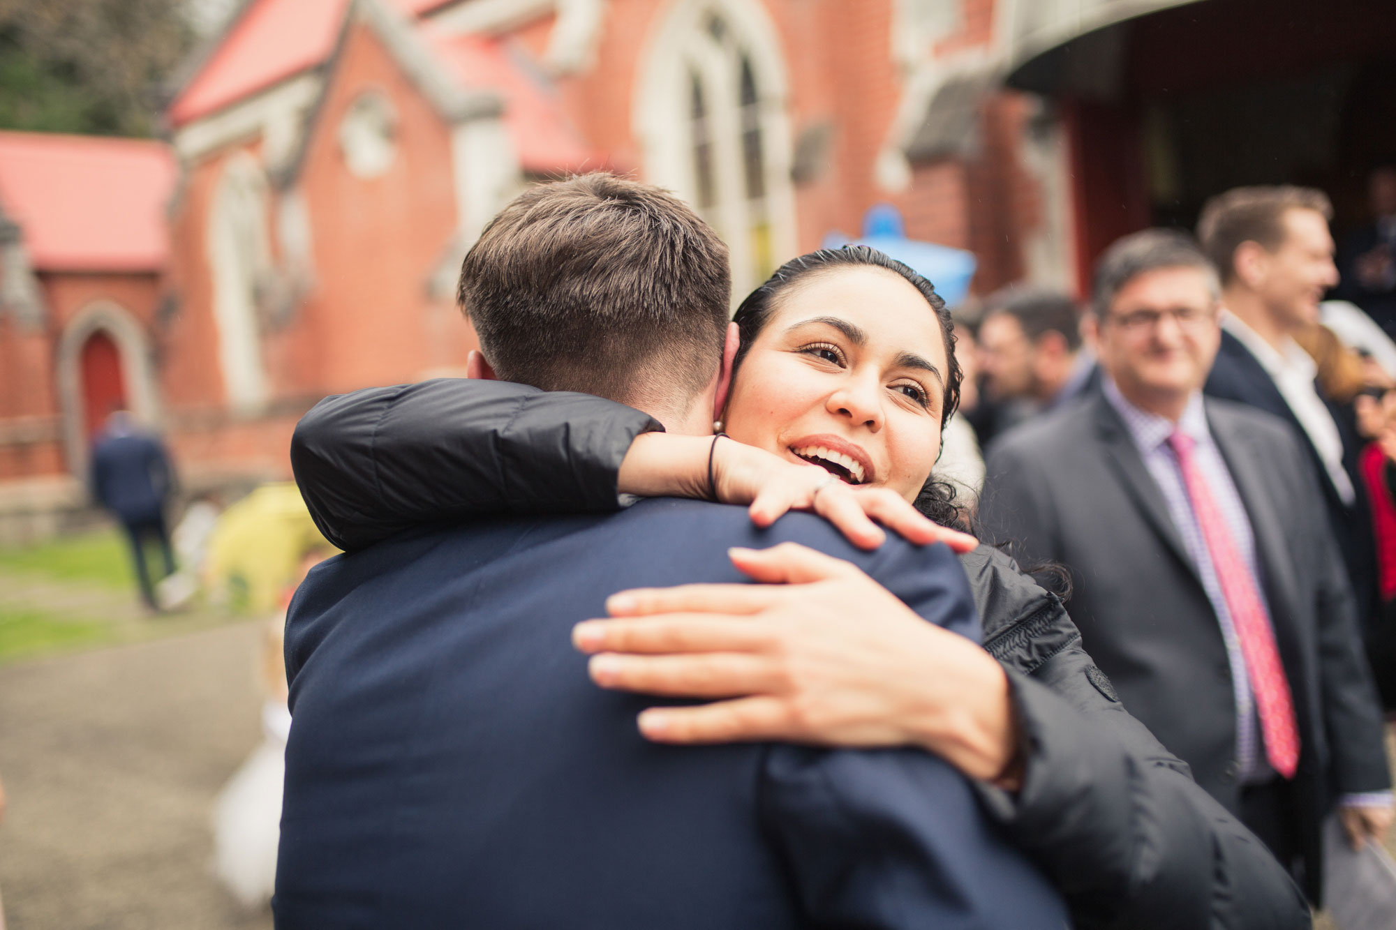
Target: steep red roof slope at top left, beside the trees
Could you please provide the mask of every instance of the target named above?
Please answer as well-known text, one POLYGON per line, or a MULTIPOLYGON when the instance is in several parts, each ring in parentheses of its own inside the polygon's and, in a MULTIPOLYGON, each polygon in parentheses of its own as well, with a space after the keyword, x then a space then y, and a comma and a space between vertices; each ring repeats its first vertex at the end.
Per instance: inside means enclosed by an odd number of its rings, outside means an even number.
MULTIPOLYGON (((416 18, 445 0, 391 0, 416 18)), ((181 126, 313 68, 335 49, 349 0, 253 0, 180 91, 169 120, 181 126)))

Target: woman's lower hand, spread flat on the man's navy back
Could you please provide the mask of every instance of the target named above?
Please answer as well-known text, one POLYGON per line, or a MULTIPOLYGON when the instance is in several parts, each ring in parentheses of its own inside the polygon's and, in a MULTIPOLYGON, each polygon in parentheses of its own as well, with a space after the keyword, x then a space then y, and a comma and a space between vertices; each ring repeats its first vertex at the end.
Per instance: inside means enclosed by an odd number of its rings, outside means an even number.
POLYGON ((733 549, 732 561, 776 584, 624 591, 611 620, 572 633, 602 687, 723 698, 642 712, 648 739, 912 744, 1016 788, 1008 677, 987 652, 812 549, 733 549))

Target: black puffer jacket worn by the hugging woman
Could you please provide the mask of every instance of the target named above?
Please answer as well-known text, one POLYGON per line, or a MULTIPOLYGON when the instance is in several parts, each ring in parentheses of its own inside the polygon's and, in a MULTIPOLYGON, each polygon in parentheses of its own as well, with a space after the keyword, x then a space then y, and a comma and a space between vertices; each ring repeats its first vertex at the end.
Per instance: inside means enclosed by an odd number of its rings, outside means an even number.
MULTIPOLYGON (((658 429, 589 395, 438 380, 321 401, 292 466, 321 532, 353 550, 482 514, 616 510, 630 443, 658 429)), ((962 564, 1029 748, 1022 790, 981 796, 1076 926, 1309 926, 1279 863, 1125 712, 1061 602, 994 549, 962 564)))

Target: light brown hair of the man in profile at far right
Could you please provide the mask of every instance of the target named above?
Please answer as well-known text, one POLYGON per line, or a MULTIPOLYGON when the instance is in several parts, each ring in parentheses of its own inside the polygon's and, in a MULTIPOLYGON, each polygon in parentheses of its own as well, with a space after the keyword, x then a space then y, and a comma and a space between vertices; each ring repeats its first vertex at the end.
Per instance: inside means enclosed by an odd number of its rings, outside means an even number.
POLYGON ((1293 184, 1233 187, 1202 205, 1198 240, 1222 274, 1223 283, 1235 278, 1235 250, 1241 243, 1259 243, 1266 251, 1280 247, 1286 233, 1284 214, 1290 209, 1312 209, 1323 219, 1333 218, 1328 194, 1293 184))

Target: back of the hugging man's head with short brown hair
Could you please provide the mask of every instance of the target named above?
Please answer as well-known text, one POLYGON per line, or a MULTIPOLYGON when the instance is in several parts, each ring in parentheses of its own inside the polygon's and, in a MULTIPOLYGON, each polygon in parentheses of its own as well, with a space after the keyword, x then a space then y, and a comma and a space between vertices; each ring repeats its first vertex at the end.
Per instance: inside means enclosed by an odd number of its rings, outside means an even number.
POLYGON ((727 246, 658 187, 606 173, 515 197, 461 265, 494 373, 546 391, 663 402, 722 362, 727 246))

